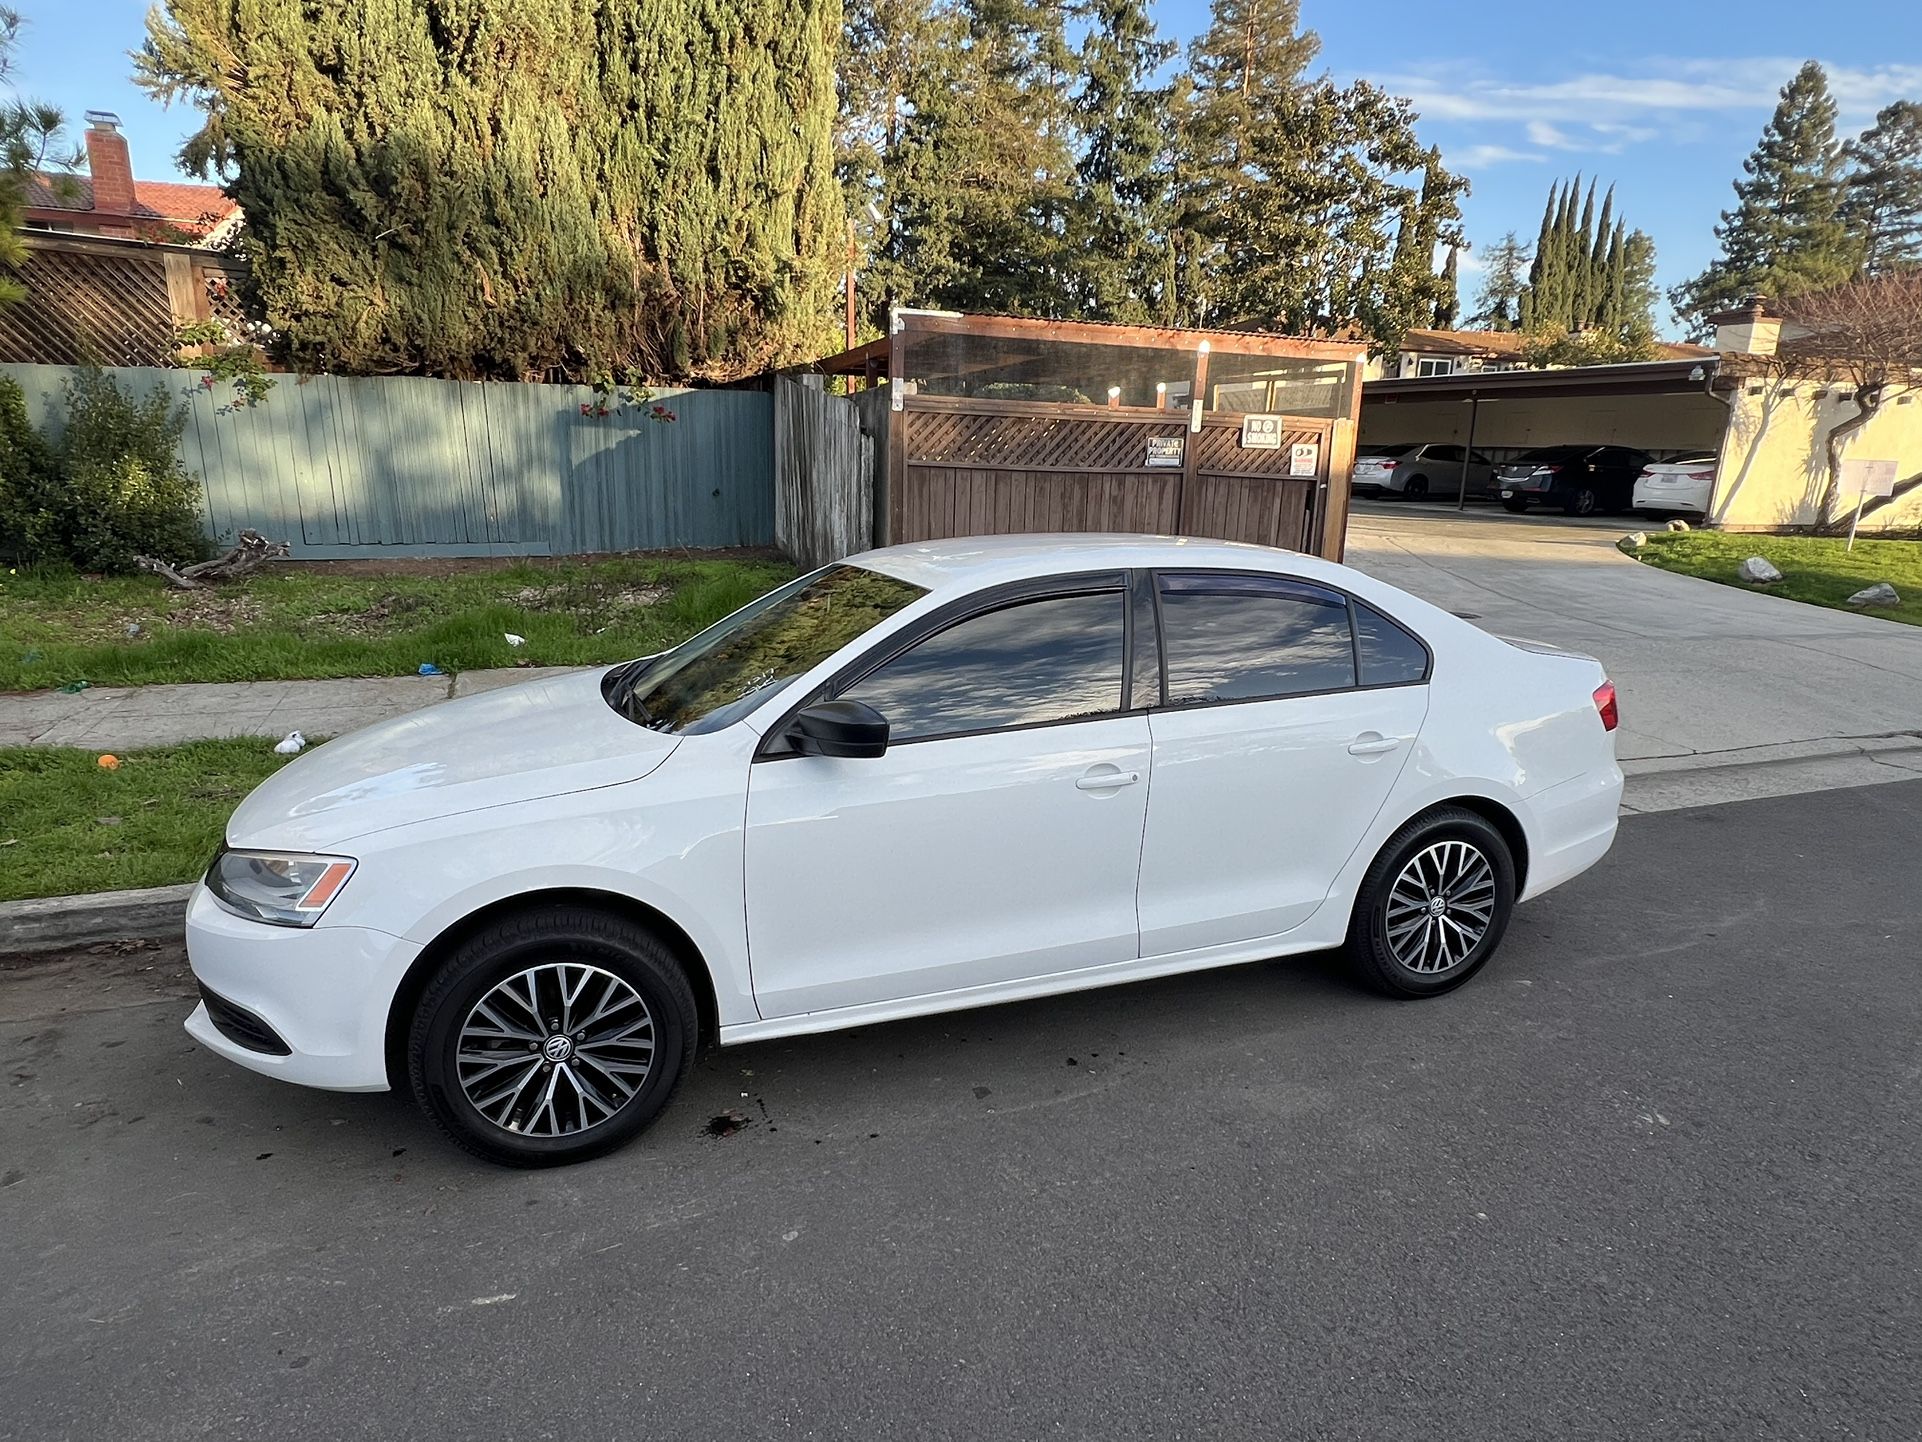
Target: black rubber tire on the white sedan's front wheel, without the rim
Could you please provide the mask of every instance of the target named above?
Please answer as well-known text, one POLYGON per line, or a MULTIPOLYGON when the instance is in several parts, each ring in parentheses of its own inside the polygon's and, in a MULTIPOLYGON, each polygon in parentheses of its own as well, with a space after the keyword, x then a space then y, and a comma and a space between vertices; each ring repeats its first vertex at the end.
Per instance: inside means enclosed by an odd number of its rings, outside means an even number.
MULTIPOLYGON (((569 973, 559 975, 565 981, 569 973)), ((590 982, 582 992, 582 1009, 604 988, 598 977, 592 977, 590 982)), ((540 1007, 540 1002, 548 998, 542 998, 534 990, 534 984, 529 986, 536 1007, 540 1007)), ((605 996, 623 994, 617 986, 605 986, 605 996)), ((634 1002, 625 1002, 623 1006, 628 1007, 628 1015, 638 1015, 634 1002)), ((555 1007, 548 1006, 544 1009, 552 1011, 555 1007)), ((502 1015, 509 1015, 519 1025, 529 1025, 519 1021, 525 1011, 527 1007, 521 1013, 502 1015)), ((615 1025, 619 1023, 605 1023, 605 1027, 615 1025)), ((632 1027, 628 1029, 632 1031, 632 1027)), ((534 1023, 534 1032, 538 1034, 540 1031, 544 1027, 534 1023)), ((580 1036, 586 1034, 586 1031, 580 1032, 580 1036)), ((611 1032, 604 1029, 600 1034, 609 1036, 611 1032)), ((482 927, 446 957, 427 984, 427 992, 421 996, 407 1031, 407 1081, 413 1084, 415 1102, 419 1102, 421 1109, 456 1146, 504 1167, 557 1167, 613 1152, 646 1131, 648 1123, 659 1115, 661 1107, 680 1088, 680 1081, 694 1065, 698 1042, 700 1011, 694 1004, 694 988, 688 984, 680 961, 659 936, 607 911, 584 906, 546 906, 519 911, 482 927), (542 1073, 554 1071, 555 1065, 567 1073, 569 1084, 575 1086, 573 1121, 577 1127, 571 1134, 523 1134, 480 1111, 475 1098, 461 1084, 456 1054, 461 1031, 473 1021, 477 1015, 475 1009, 482 1000, 500 1009, 498 986, 509 979, 515 979, 517 986, 529 984, 519 979, 527 977, 530 969, 552 965, 573 967, 573 975, 579 975, 580 967, 592 967, 596 973, 625 982, 634 992, 638 1004, 646 1007, 648 1021, 652 1023, 648 1031, 652 1052, 646 1057, 646 1071, 640 1084, 611 1107, 611 1115, 598 1121, 590 1121, 590 1104, 580 1098, 575 1071, 567 1063, 573 1061, 579 1067, 579 1075, 590 1090, 600 1086, 607 1098, 617 1094, 619 1079, 607 1073, 590 1073, 586 1065, 580 1065, 573 1057, 573 1048, 567 1048, 569 1056, 561 1063, 529 1057, 530 1067, 538 1065, 542 1073), (609 1081, 613 1084, 607 1084, 609 1081)), ((640 1042, 619 1040, 611 1044, 640 1046, 640 1042)), ((519 1042, 500 1040, 498 1046, 519 1048, 519 1042)), ((536 1052, 538 1048, 530 1046, 529 1050, 536 1052)), ((498 1056, 505 1057, 507 1052, 502 1050, 498 1056)), ((502 1061, 502 1071, 488 1075, 507 1075, 509 1081, 521 1075, 505 1071, 509 1065, 519 1067, 519 1057, 511 1063, 502 1061)), ((627 1075, 634 1069, 638 1069, 634 1054, 623 1054, 617 1071, 627 1075)), ((542 1081, 544 1075, 538 1075, 532 1086, 540 1090, 542 1081)), ((479 1086, 479 1082, 475 1084, 479 1086)), ((569 1100, 565 1092, 559 1092, 557 1082, 552 1094, 557 1094, 557 1104, 554 1111, 546 1113, 546 1121, 536 1111, 532 1117, 521 1113, 513 1119, 515 1125, 546 1125, 550 1131, 561 1131, 567 1123, 565 1109, 569 1100)), ((486 1096, 480 1100, 484 1102, 486 1096)), ((515 1106, 523 1104, 517 1102, 515 1106)))

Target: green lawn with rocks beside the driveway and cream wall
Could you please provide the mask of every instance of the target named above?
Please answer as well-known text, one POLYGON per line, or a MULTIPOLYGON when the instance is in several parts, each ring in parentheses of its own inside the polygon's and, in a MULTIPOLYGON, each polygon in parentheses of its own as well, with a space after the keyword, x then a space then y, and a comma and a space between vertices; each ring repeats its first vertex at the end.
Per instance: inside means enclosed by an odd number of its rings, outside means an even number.
POLYGON ((1922 540, 1857 540, 1845 550, 1845 540, 1826 536, 1732 536, 1720 531, 1651 533, 1649 544, 1630 552, 1638 561, 1664 571, 1720 581, 1745 590, 1768 590, 1789 600, 1832 606, 1839 611, 1860 609, 1893 621, 1922 625, 1922 540), (1749 556, 1774 561, 1782 581, 1772 586, 1751 586, 1736 579, 1736 567, 1749 556), (1903 598, 1901 606, 1847 606, 1862 586, 1887 581, 1903 598))

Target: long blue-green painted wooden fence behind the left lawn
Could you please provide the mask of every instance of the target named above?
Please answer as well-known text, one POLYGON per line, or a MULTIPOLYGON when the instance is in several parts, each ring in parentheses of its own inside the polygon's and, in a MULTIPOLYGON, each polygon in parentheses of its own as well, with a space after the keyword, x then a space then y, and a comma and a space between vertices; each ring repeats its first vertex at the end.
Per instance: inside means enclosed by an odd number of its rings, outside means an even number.
MULTIPOLYGON (((0 365, 33 419, 63 419, 65 365, 0 365)), ((110 369, 123 388, 165 386, 188 408, 181 454, 208 490, 208 529, 286 538, 294 556, 565 556, 775 540, 773 398, 755 390, 659 396, 580 413, 584 386, 415 377, 279 377, 233 408, 196 371, 110 369)))

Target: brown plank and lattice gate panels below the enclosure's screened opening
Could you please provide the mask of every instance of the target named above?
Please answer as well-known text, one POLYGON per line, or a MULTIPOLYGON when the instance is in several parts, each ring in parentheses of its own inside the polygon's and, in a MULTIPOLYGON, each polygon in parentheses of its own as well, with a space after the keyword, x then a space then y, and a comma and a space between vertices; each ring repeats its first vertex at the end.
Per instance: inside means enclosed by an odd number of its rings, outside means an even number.
POLYGON ((1130 531, 1318 550, 1332 421, 1284 417, 1276 450, 1244 450, 1240 415, 1190 433, 1178 411, 1051 402, 913 396, 894 423, 894 540, 1130 531), (1313 475, 1290 475, 1295 444, 1315 446, 1313 475))

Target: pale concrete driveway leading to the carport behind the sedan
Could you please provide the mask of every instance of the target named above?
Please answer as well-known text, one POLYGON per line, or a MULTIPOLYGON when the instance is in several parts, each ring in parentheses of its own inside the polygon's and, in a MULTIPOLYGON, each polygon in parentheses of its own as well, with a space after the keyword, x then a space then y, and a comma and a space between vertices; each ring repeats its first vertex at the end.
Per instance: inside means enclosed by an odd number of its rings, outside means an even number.
POLYGON ((1599 658, 1638 769, 1922 742, 1922 627, 1657 571, 1614 548, 1636 527, 1357 506, 1347 561, 1497 634, 1599 658))

